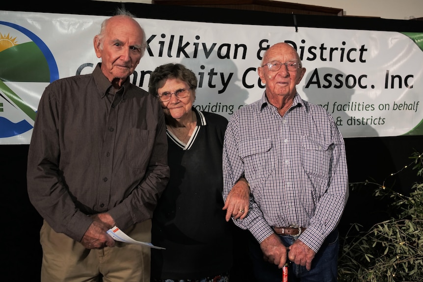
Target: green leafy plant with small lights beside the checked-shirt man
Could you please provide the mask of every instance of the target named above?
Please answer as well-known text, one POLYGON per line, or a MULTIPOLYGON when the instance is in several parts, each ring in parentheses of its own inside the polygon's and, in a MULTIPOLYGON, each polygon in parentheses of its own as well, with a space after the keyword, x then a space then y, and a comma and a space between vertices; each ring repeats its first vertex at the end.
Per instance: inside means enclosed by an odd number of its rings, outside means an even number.
POLYGON ((366 231, 354 224, 340 238, 339 282, 423 281, 423 157, 414 153, 410 158, 413 161, 403 168, 417 171, 410 195, 397 193, 384 183, 350 184, 353 189, 375 185, 375 197, 392 200, 388 206, 391 216, 366 231))

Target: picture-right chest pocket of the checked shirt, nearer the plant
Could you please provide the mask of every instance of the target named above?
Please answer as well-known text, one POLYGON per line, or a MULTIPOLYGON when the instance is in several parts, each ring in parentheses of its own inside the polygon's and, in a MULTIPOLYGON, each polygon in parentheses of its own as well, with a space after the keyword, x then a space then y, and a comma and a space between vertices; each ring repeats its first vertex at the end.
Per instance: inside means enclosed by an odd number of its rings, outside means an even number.
POLYGON ((331 166, 331 144, 318 142, 304 136, 301 140, 301 163, 307 175, 329 178, 331 166))

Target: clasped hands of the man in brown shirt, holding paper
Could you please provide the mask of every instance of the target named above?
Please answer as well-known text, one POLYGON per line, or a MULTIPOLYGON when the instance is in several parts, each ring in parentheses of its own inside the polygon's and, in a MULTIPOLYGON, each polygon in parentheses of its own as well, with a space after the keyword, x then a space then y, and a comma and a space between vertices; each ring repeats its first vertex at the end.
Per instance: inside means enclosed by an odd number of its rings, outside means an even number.
POLYGON ((97 214, 93 216, 93 220, 88 230, 85 231, 81 244, 87 249, 101 249, 105 246, 113 247, 115 241, 107 234, 107 230, 114 226, 111 216, 107 213, 97 214), (107 221, 107 223, 103 220, 107 221))

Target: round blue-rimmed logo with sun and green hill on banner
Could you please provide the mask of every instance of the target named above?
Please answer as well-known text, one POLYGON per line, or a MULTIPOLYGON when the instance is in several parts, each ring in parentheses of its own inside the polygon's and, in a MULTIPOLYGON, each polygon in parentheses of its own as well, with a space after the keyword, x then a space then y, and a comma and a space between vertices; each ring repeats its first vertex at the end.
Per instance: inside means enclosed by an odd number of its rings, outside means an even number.
POLYGON ((0 138, 33 128, 41 94, 58 78, 53 54, 37 35, 0 21, 0 138))

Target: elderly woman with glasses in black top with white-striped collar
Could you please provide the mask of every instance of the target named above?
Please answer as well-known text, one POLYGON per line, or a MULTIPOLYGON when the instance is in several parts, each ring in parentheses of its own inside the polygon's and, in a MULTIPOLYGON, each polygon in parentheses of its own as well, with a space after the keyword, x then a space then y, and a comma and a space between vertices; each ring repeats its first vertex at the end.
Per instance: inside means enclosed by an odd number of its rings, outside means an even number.
POLYGON ((232 265, 232 216, 248 212, 240 179, 223 203, 222 150, 226 118, 193 107, 197 78, 181 64, 151 74, 149 92, 166 120, 170 179, 153 214, 151 281, 226 282, 232 265), (226 218, 225 211, 226 209, 226 218), (225 220, 226 219, 226 220, 225 220))

